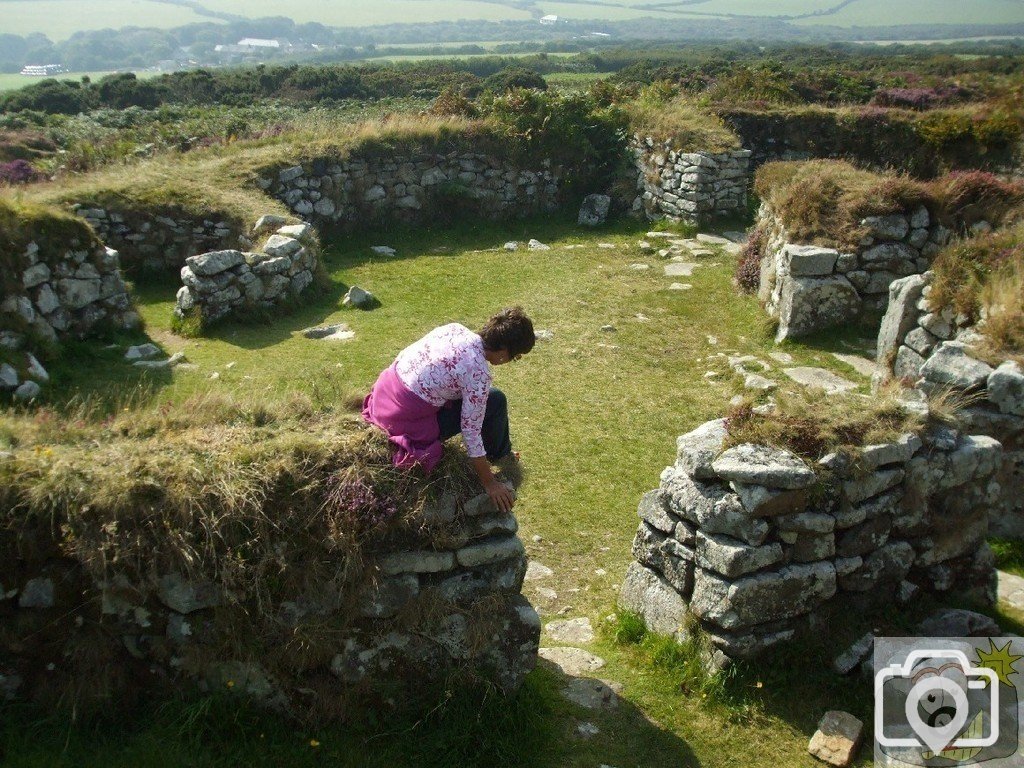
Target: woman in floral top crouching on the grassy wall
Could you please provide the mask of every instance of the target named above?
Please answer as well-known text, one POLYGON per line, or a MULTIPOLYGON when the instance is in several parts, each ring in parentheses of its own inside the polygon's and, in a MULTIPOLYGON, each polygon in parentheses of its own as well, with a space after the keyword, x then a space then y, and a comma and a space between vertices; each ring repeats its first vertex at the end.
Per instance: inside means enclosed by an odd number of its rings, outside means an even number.
POLYGON ((503 512, 509 489, 495 479, 489 462, 515 461, 508 403, 490 386, 488 366, 504 366, 534 348, 534 324, 521 307, 504 309, 479 333, 452 323, 406 347, 384 371, 362 403, 362 418, 394 444, 394 464, 431 471, 441 441, 462 432, 466 453, 487 495, 503 512))

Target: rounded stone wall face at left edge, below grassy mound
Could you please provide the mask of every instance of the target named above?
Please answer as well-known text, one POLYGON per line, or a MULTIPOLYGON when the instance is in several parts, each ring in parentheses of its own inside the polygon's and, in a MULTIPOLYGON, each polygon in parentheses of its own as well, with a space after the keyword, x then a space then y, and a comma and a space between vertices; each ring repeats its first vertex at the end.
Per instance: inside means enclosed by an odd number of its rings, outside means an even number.
POLYGON ((29 347, 30 338, 84 338, 100 323, 138 325, 118 252, 93 238, 73 239, 55 251, 30 243, 20 264, 0 300, 0 346, 17 350, 29 347))

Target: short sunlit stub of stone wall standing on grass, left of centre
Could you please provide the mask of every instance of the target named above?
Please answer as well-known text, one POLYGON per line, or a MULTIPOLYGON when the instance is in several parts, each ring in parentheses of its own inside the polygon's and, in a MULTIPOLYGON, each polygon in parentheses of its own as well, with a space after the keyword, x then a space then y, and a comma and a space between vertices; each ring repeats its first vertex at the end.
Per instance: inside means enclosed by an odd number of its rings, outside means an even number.
POLYGON ((232 312, 279 306, 312 285, 318 259, 309 224, 279 228, 258 252, 189 256, 181 267, 184 285, 174 312, 178 317, 199 312, 204 323, 212 323, 232 312))

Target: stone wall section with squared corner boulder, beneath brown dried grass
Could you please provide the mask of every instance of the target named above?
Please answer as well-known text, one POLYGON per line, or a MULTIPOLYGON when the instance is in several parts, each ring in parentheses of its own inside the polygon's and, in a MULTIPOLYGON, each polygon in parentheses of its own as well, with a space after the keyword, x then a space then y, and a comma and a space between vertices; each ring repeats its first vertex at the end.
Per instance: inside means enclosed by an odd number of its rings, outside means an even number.
POLYGON ((758 296, 777 317, 776 341, 806 336, 885 311, 890 284, 923 272, 950 231, 925 206, 909 213, 868 216, 866 232, 849 253, 790 242, 781 218, 767 204, 758 213, 767 245, 758 296))

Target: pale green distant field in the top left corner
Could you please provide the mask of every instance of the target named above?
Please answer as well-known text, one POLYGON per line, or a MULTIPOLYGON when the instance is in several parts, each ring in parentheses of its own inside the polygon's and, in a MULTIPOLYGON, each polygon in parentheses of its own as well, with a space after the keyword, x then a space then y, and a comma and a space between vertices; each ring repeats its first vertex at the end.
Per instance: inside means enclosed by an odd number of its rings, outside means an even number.
POLYGON ((66 40, 84 30, 170 28, 216 20, 183 5, 155 0, 0 0, 0 18, 3 32, 11 35, 41 32, 53 41, 66 40))

